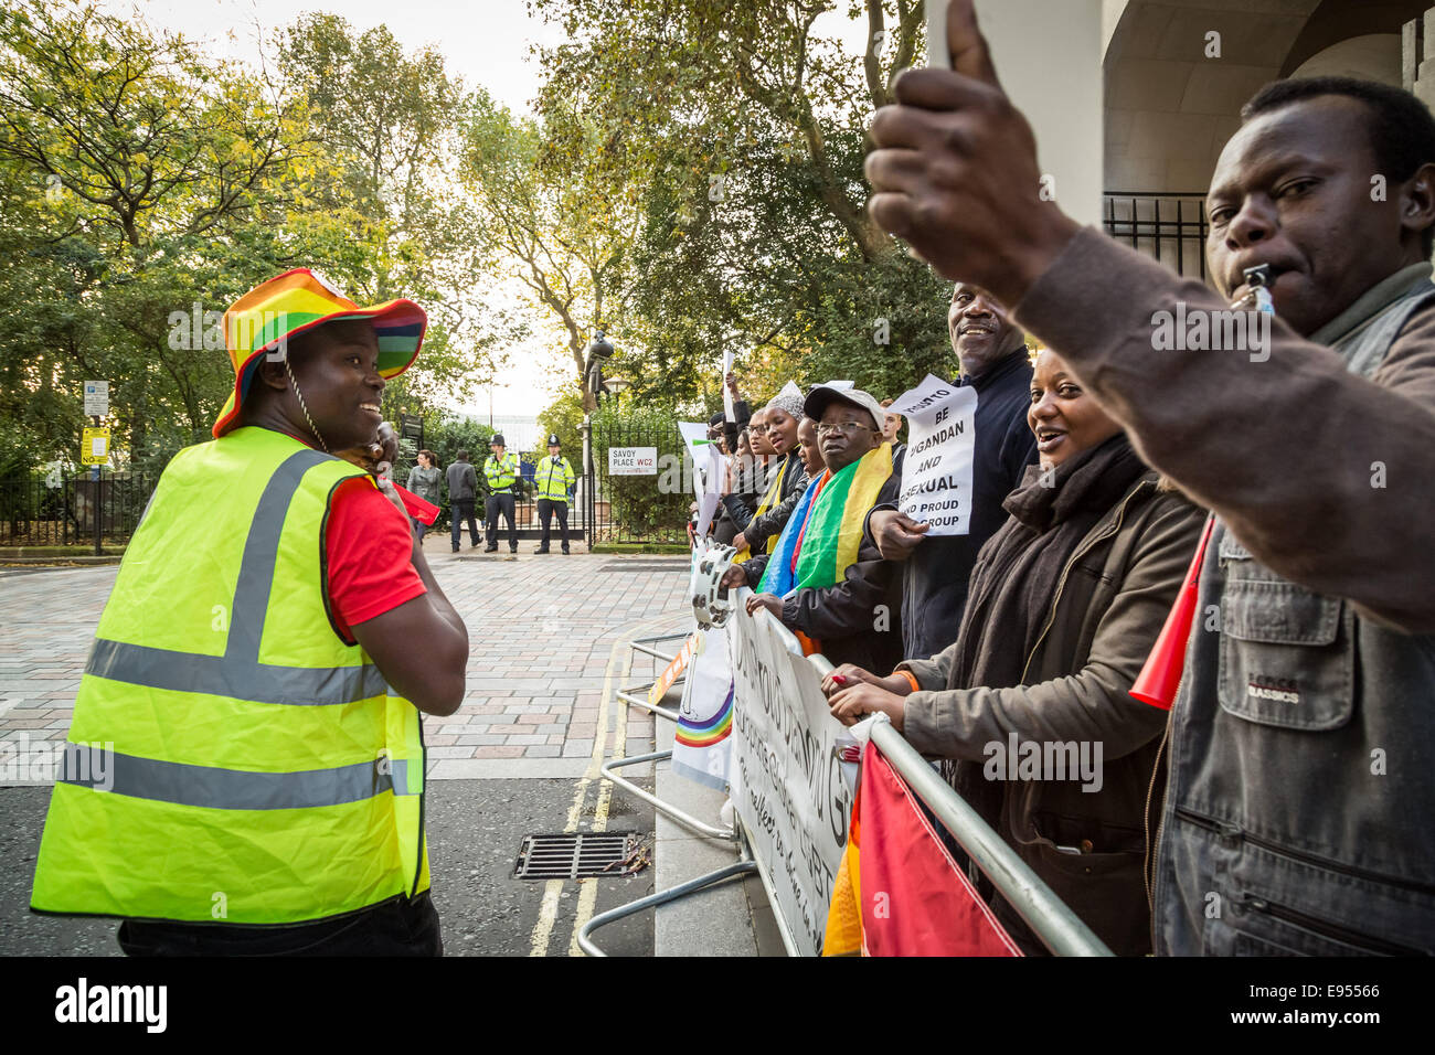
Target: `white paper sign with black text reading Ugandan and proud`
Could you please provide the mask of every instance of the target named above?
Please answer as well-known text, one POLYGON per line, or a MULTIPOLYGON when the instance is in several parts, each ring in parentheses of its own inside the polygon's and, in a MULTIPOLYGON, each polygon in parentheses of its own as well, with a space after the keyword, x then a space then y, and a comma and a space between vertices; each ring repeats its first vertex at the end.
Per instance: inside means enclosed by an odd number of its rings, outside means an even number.
POLYGON ((933 378, 888 408, 907 419, 911 442, 901 469, 897 508, 930 524, 930 535, 971 530, 971 458, 976 451, 977 390, 933 378))

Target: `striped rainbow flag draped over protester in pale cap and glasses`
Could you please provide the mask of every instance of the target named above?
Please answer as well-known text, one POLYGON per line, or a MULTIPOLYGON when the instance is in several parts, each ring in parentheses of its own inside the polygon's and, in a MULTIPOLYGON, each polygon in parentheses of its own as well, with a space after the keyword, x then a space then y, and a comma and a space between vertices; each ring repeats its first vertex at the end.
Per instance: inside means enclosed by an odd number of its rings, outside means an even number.
MULTIPOLYGON (((794 583, 788 587, 805 590, 806 587, 822 589, 837 586, 847 576, 847 570, 857 563, 857 550, 862 544, 862 525, 867 514, 877 502, 877 492, 893 475, 893 448, 883 444, 875 451, 868 451, 858 461, 845 466, 841 472, 828 472, 827 485, 821 494, 812 500, 811 514, 806 515, 806 525, 799 528, 802 538, 796 548, 798 563, 794 573, 794 583)), ((804 495, 806 500, 806 495, 804 495)), ((794 511, 792 520, 798 514, 794 511)), ((773 563, 779 566, 779 573, 786 568, 779 551, 768 561, 768 571, 773 563)), ((763 573, 763 589, 766 589, 768 573, 763 573)), ((773 589, 779 597, 788 590, 773 589)))

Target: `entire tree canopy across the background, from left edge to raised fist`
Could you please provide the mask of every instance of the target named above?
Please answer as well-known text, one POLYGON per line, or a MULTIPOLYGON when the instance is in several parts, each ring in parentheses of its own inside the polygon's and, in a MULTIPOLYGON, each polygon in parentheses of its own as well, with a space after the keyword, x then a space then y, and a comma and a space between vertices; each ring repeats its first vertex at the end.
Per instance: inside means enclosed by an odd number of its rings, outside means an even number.
POLYGON ((333 13, 245 63, 76 0, 0 14, 0 472, 72 455, 85 379, 110 382, 132 462, 204 439, 232 385, 220 313, 296 266, 428 309, 393 418, 462 402, 532 333, 571 363, 545 415, 565 429, 594 411, 597 329, 626 405, 689 413, 720 400, 725 349, 755 398, 951 369, 947 290, 862 179, 920 0, 530 10, 567 34, 531 115, 333 13))

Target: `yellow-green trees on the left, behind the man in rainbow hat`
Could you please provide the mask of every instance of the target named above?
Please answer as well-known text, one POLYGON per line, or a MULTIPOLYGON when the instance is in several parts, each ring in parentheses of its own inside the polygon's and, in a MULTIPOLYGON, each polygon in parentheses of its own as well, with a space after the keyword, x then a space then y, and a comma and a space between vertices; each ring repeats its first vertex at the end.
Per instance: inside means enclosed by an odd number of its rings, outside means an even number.
POLYGON ((461 85, 438 56, 331 16, 280 46, 277 79, 138 16, 36 0, 0 14, 6 458, 72 455, 92 378, 110 382, 132 462, 207 439, 232 386, 220 313, 297 266, 429 311, 389 388, 395 418, 482 383, 522 337, 472 293, 489 283, 452 178, 461 85))

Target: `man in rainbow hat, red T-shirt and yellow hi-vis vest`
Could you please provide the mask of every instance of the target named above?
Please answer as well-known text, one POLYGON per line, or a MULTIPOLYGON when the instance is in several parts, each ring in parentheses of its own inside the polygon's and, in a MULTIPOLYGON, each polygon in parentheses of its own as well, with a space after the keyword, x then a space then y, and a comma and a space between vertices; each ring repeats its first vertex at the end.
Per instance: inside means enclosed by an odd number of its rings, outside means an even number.
POLYGON ((121 917, 129 955, 442 953, 419 712, 462 703, 468 632, 379 409, 425 326, 306 268, 225 313, 234 392, 125 551, 32 910, 121 917))

